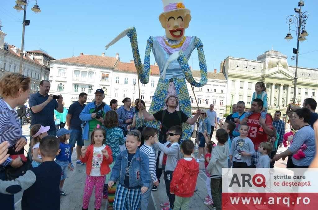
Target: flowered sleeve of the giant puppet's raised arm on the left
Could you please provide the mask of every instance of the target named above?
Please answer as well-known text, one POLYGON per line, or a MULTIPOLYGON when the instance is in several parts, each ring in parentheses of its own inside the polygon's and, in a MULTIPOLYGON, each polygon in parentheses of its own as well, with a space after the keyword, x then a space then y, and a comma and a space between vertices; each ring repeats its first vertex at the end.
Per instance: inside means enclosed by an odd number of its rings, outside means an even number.
POLYGON ((131 30, 127 32, 127 36, 130 39, 131 49, 134 56, 135 67, 137 69, 137 73, 139 74, 140 82, 142 84, 147 84, 149 82, 149 72, 150 72, 150 52, 153 45, 152 36, 150 36, 147 41, 145 60, 143 65, 139 55, 137 32, 135 27, 133 27, 131 30))

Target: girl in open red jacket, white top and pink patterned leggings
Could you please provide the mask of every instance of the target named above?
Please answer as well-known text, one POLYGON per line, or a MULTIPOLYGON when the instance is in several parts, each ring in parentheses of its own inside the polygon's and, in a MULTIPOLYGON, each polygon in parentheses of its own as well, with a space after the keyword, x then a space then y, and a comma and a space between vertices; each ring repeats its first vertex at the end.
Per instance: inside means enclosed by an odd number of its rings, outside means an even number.
POLYGON ((83 195, 83 210, 88 209, 89 199, 95 187, 95 209, 99 210, 103 196, 105 175, 110 172, 113 162, 112 150, 105 146, 105 130, 97 125, 91 135, 92 143, 82 147, 80 161, 86 163, 86 181, 83 195))

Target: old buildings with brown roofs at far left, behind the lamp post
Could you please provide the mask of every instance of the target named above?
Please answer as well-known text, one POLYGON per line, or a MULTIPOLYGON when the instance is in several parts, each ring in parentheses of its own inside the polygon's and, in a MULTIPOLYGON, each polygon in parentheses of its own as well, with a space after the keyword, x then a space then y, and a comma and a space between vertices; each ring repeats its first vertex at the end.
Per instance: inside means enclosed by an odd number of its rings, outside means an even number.
MULTIPOLYGON (((6 34, 0 31, 0 77, 6 72, 18 73, 20 69, 20 49, 4 42, 6 34)), ((47 61, 51 56, 40 50, 24 52, 23 74, 31 78, 31 93, 37 92, 41 80, 48 80, 50 71, 47 61)))

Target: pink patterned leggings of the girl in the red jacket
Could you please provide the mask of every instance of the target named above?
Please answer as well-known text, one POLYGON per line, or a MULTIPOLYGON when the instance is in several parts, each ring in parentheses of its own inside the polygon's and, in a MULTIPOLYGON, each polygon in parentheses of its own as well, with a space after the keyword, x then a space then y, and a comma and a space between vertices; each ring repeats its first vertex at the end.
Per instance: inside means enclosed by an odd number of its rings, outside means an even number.
POLYGON ((89 199, 91 198, 94 186, 95 186, 95 208, 100 209, 104 184, 105 184, 105 176, 87 176, 86 177, 84 195, 83 195, 84 209, 88 208, 89 199))

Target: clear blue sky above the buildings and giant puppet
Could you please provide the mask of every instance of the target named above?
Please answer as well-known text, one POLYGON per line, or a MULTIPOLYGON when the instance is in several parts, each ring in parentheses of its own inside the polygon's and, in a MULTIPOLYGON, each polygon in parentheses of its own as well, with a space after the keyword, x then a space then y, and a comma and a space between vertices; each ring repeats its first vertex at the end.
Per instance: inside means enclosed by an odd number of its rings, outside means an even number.
MULTIPOLYGON (((78 56, 81 52, 101 55, 105 45, 122 30, 135 26, 142 60, 149 36, 163 36, 158 16, 163 11, 162 1, 45 1, 38 0, 42 10, 35 15, 31 11, 35 2, 30 2, 26 19, 24 48, 44 49, 55 59, 78 56)), ((0 19, 6 42, 21 48, 23 12, 17 13, 14 0, 2 0, 0 19)), ((185 31, 186 36, 197 36, 204 44, 204 52, 209 71, 220 69, 220 62, 227 56, 256 59, 265 51, 278 50, 292 61, 293 48, 297 41, 287 42, 288 32, 285 19, 294 15, 298 0, 257 1, 257 0, 184 0, 191 10, 192 20, 185 31)), ((307 40, 300 43, 299 66, 318 68, 318 1, 306 0, 303 11, 309 12, 306 29, 307 40), (314 51, 314 52, 312 52, 314 51), (309 52, 309 53, 308 53, 309 52)), ((294 26, 292 26, 295 29, 294 26)), ((292 32, 295 37, 295 32, 292 32)), ((122 62, 133 59, 128 37, 111 46, 106 56, 119 53, 122 62)), ((154 57, 151 54, 151 63, 154 57)), ((189 64, 199 69, 197 52, 192 53, 189 64)))

